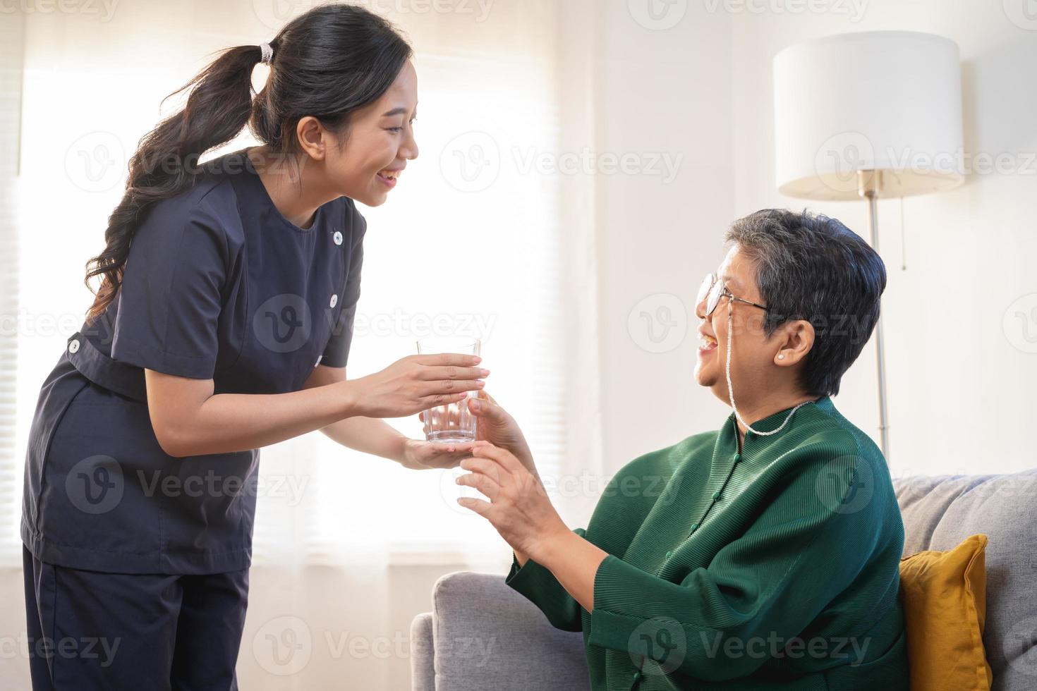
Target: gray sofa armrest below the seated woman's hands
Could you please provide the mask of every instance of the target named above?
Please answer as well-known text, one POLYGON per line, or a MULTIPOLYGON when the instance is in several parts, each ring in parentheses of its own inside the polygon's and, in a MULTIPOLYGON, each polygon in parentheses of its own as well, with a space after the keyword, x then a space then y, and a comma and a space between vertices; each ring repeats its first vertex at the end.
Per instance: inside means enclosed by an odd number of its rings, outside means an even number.
MULTIPOLYGON (((427 626, 419 624, 423 616, 412 630, 427 626)), ((504 574, 443 576, 430 618, 436 691, 590 689, 583 634, 551 626, 504 574)), ((418 683, 416 674, 415 691, 429 691, 418 683)))

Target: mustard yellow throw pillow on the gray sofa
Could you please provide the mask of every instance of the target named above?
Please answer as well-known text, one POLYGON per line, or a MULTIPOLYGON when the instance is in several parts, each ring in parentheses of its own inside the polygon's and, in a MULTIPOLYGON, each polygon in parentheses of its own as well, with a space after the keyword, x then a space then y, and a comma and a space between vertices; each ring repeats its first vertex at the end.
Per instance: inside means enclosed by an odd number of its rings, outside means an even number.
POLYGON ((986 536, 900 560, 912 691, 989 691, 983 653, 986 536))

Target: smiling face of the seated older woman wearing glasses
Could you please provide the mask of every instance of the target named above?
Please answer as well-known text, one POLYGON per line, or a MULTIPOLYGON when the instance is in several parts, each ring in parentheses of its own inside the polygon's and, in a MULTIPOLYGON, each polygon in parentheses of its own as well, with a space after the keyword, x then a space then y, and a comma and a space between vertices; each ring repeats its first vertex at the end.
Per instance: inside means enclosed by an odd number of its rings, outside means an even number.
MULTIPOLYGON (((746 257, 737 244, 727 253, 717 276, 727 286, 727 291, 735 297, 751 300, 758 305, 766 305, 756 287, 754 267, 751 259, 746 257)), ((695 366, 695 378, 701 386, 708 386, 722 401, 728 402, 727 377, 724 368, 727 363, 728 310, 731 310, 731 327, 733 338, 731 343, 731 382, 735 390, 735 403, 741 397, 752 395, 752 388, 766 385, 775 376, 777 355, 781 349, 781 340, 775 334, 770 340, 763 335, 763 317, 765 312, 758 307, 731 300, 721 296, 717 309, 705 317, 706 299, 703 298, 695 307, 699 319, 705 319, 699 326, 699 334, 717 340, 716 347, 704 349, 703 344, 709 342, 703 339, 698 351, 698 362, 695 366)), ((783 358, 784 361, 785 358, 783 358)), ((785 364, 784 362, 782 363, 785 364)))

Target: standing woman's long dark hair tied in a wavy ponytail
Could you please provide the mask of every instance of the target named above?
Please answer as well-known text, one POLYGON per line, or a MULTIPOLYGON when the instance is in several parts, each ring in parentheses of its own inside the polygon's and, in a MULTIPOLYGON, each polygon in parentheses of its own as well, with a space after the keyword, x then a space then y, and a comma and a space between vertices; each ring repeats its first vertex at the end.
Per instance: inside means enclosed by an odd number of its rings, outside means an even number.
POLYGON ((259 46, 223 50, 169 94, 191 89, 184 110, 145 135, 130 159, 127 192, 108 218, 105 250, 86 263, 91 292, 90 279, 104 277, 87 311, 88 323, 118 294, 130 240, 150 205, 191 188, 203 172, 198 164, 203 153, 232 140, 246 124, 271 151, 298 152, 296 125, 307 115, 344 134, 349 114, 381 97, 412 55, 389 22, 347 4, 300 15, 270 46, 270 77, 254 99, 252 69, 262 57, 259 46))

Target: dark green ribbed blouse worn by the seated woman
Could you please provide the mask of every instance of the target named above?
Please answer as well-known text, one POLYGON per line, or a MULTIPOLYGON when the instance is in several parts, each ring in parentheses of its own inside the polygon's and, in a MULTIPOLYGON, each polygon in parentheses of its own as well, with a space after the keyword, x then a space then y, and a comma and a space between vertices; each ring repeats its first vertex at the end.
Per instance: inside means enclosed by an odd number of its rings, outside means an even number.
POLYGON ((532 559, 506 582, 583 632, 593 691, 907 689, 900 510, 881 452, 829 396, 740 454, 732 412, 635 459, 574 531, 609 553, 593 611, 532 559))

